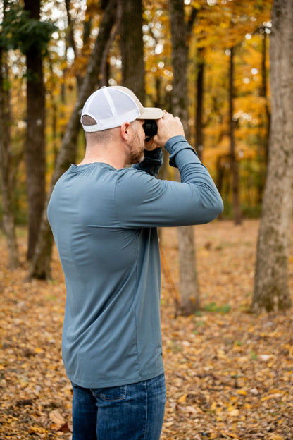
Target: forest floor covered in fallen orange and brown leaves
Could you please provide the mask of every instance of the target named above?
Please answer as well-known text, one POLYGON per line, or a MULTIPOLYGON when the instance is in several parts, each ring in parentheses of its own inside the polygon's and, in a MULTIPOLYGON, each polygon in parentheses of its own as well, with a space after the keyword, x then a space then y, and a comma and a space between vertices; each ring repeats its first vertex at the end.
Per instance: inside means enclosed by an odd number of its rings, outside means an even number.
MULTIPOLYGON (((293 439, 292 311, 249 312, 258 221, 197 226, 201 311, 175 317, 177 231, 161 239, 162 336, 167 404, 161 440, 293 439)), ((70 439, 71 387, 61 360, 65 288, 54 250, 52 281, 7 269, 0 236, 0 440, 70 439)), ((289 258, 293 291, 293 249, 289 258)), ((86 439, 85 439, 86 440, 86 439)))

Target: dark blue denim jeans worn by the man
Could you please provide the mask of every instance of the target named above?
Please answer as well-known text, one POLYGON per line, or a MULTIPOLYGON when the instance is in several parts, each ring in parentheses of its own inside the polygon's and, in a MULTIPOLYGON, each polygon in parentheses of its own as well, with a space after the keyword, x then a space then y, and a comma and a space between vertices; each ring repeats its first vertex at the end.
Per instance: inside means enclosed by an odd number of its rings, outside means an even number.
POLYGON ((158 440, 165 403, 164 374, 111 388, 73 384, 72 440, 158 440))

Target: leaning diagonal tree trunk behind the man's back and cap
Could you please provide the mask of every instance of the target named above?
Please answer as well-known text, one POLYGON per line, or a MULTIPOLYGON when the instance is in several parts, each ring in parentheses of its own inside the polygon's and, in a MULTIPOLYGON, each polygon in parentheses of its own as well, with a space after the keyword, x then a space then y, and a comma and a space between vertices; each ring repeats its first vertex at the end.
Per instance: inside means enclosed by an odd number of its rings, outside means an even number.
MULTIPOLYGON (((48 206, 56 181, 58 181, 58 178, 60 178, 61 175, 68 169, 70 164, 75 162, 77 136, 80 132, 80 111, 89 95, 94 92, 96 82, 99 81, 101 59, 111 33, 113 23, 115 21, 115 13, 116 0, 110 0, 108 1, 103 19, 101 20, 99 34, 96 37, 94 49, 89 58, 87 73, 82 82, 82 87, 80 88, 75 108, 73 109, 73 113, 71 114, 70 121, 66 128, 66 133, 62 139, 61 149, 58 152, 56 161, 56 169, 51 178, 50 189, 46 196, 46 207, 48 206)), ((46 207, 42 216, 39 239, 37 242, 34 259, 32 260, 29 278, 47 279, 51 276, 50 262, 53 236, 51 234, 51 228, 46 215, 46 207)))

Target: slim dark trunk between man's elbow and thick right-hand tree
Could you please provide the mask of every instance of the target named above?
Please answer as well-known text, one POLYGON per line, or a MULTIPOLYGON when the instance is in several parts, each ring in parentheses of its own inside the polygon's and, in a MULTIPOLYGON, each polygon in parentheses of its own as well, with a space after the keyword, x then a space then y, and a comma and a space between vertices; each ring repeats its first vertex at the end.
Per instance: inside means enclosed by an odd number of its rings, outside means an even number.
POLYGON ((234 114, 234 47, 231 47, 230 55, 230 93, 229 93, 229 120, 230 120, 230 168, 232 173, 232 206, 234 210, 235 224, 239 225, 242 221, 242 212, 239 202, 239 169, 235 151, 235 121, 234 114))

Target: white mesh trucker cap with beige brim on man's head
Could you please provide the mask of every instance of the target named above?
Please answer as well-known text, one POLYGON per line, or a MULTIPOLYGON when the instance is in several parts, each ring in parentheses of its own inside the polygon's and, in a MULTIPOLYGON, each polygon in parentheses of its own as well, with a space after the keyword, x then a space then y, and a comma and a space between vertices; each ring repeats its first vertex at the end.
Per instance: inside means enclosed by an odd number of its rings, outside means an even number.
POLYGON ((163 111, 154 107, 144 107, 135 94, 121 85, 101 87, 89 96, 82 109, 80 122, 87 132, 120 127, 135 119, 160 119, 163 111), (96 124, 86 126, 82 116, 91 116, 96 124))

